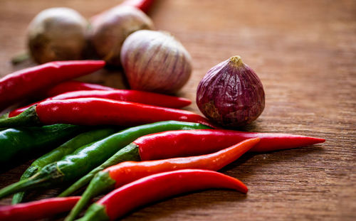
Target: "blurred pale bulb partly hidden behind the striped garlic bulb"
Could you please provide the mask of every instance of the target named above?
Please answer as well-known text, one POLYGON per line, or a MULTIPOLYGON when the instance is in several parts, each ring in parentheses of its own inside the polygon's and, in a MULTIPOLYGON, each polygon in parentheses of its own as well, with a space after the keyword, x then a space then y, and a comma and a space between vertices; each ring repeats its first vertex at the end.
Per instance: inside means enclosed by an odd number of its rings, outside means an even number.
POLYGON ((95 17, 90 31, 90 41, 96 53, 110 65, 120 66, 122 43, 130 33, 153 29, 151 19, 132 6, 115 7, 95 17))

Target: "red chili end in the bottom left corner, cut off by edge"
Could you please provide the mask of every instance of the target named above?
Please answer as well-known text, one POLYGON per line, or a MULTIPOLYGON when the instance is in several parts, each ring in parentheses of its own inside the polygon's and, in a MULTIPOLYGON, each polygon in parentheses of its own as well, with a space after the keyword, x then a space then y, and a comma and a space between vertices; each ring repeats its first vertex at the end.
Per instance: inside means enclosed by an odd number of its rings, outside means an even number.
POLYGON ((21 221, 43 219, 70 210, 79 199, 79 196, 48 198, 30 203, 1 206, 0 220, 21 221))

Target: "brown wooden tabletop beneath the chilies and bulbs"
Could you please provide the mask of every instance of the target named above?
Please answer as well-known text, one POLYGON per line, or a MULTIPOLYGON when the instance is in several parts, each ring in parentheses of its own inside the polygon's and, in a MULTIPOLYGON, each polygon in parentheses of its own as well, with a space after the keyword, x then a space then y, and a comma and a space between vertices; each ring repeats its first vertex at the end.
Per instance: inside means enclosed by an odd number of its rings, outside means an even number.
MULTIPOLYGON (((119 2, 1 0, 0 75, 33 65, 14 67, 9 60, 26 49, 26 26, 42 9, 68 6, 89 18, 119 2)), ((173 33, 192 54, 193 75, 178 95, 194 101, 207 70, 241 55, 266 92, 266 109, 245 129, 327 141, 248 154, 224 168, 248 185, 248 195, 229 190, 180 195, 124 220, 356 220, 356 1, 157 0, 150 15, 157 29, 173 33)), ((117 71, 81 80, 125 85, 117 71)), ((187 109, 199 113, 194 102, 187 109)), ((18 180, 29 163, 1 173, 0 187, 18 180)))

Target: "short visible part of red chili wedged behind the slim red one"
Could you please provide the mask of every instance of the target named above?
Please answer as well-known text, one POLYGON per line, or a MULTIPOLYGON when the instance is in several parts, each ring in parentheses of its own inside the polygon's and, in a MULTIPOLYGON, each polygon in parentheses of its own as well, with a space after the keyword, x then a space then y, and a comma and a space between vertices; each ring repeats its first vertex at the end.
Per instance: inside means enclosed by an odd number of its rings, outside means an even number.
POLYGON ((80 82, 77 80, 70 80, 43 91, 41 96, 43 97, 54 97, 56 95, 61 95, 66 92, 73 92, 76 90, 115 90, 112 87, 106 87, 103 85, 91 84, 80 82))

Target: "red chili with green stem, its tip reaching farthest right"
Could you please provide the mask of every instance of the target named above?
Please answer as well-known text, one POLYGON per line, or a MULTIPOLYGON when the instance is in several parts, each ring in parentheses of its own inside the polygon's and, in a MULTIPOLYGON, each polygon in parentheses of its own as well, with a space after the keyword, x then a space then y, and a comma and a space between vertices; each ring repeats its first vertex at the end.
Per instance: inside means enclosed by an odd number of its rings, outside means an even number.
POLYGON ((150 161, 179 156, 197 156, 213 153, 237 142, 255 137, 259 137, 261 142, 251 151, 276 151, 279 149, 318 144, 325 141, 325 139, 292 134, 264 134, 217 129, 194 129, 189 131, 189 133, 184 133, 184 131, 152 133, 141 136, 139 139, 125 146, 125 148, 117 151, 107 161, 67 188, 60 196, 70 195, 75 190, 89 183, 96 173, 122 161, 135 161, 137 158, 140 158, 142 161, 150 161))

